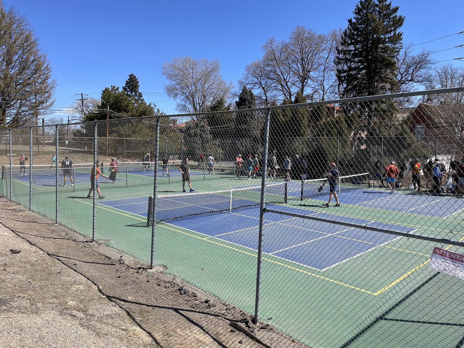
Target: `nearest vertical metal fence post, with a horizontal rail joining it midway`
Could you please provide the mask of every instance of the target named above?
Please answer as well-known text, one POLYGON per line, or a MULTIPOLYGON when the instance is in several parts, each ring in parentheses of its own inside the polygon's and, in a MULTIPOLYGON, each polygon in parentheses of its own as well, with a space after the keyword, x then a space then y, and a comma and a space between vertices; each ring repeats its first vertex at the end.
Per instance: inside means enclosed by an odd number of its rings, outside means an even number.
POLYGON ((253 322, 259 320, 259 300, 261 296, 261 263, 263 259, 263 220, 264 220, 264 193, 266 191, 266 170, 267 170, 267 148, 269 143, 269 123, 271 120, 271 110, 266 110, 264 119, 264 142, 263 142, 263 169, 261 173, 261 200, 259 207, 259 235, 258 235, 258 264, 256 272, 256 297, 255 297, 255 317, 253 322))

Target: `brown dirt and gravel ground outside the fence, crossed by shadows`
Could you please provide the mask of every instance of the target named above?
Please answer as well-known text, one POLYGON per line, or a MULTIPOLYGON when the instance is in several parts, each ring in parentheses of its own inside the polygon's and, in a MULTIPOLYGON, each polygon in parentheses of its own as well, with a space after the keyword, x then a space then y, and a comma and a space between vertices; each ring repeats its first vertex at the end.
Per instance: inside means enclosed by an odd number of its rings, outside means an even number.
POLYGON ((120 256, 0 199, 0 347, 263 347, 231 328, 241 310, 120 256))

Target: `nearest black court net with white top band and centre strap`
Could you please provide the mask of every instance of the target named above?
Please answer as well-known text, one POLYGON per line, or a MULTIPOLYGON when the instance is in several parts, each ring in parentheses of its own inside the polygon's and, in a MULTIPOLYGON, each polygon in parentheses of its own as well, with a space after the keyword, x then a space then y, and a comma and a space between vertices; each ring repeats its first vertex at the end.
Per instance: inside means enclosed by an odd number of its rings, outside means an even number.
MULTIPOLYGON (((259 206, 261 186, 233 188, 230 190, 177 193, 156 197, 155 219, 165 221, 195 217, 199 214, 232 212, 252 206, 259 206)), ((266 185, 266 204, 287 202, 287 183, 266 185)), ((148 219, 151 209, 148 207, 148 219)))

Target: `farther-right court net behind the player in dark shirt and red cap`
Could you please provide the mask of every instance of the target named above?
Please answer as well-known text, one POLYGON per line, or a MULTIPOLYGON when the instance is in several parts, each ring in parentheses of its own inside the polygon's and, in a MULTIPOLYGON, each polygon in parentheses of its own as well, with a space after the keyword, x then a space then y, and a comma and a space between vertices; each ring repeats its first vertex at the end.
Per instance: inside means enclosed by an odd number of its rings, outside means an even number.
MULTIPOLYGON (((337 192, 368 188, 369 173, 340 176, 337 181, 337 192)), ((316 197, 322 194, 327 194, 328 192, 329 182, 327 178, 301 181, 301 200, 316 197), (321 187, 322 189, 320 189, 321 187)))

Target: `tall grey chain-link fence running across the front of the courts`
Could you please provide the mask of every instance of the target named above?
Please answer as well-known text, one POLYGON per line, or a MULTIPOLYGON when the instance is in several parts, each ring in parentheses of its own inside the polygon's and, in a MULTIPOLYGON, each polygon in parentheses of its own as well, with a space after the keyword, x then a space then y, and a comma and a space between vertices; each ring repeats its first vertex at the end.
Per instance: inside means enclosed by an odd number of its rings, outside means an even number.
POLYGON ((273 346, 457 347, 463 90, 4 129, 1 194, 273 346))

